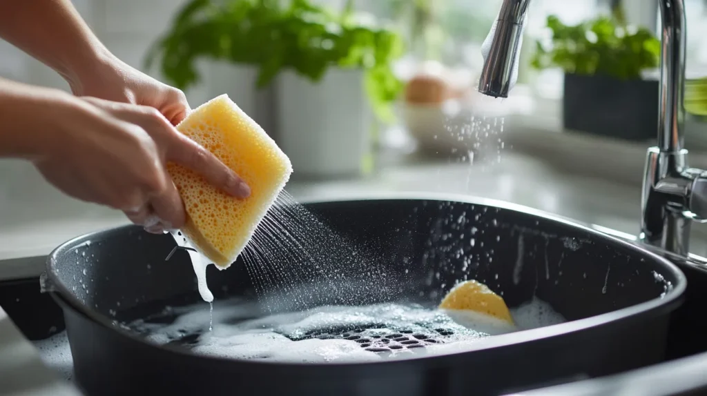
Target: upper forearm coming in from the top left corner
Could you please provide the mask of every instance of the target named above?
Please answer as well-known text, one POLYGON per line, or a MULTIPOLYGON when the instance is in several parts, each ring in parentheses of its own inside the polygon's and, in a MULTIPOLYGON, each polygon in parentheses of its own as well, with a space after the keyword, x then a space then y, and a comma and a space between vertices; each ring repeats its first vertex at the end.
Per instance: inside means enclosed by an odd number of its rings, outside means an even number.
POLYGON ((112 56, 70 0, 0 0, 0 37, 61 74, 74 88, 81 74, 112 56))

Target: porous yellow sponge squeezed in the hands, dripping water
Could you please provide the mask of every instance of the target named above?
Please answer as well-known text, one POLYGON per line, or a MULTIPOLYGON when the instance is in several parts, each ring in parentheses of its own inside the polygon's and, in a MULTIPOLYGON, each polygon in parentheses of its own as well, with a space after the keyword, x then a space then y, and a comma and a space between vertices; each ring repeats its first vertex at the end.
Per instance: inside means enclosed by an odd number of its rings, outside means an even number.
POLYGON ((182 233, 218 268, 228 268, 289 180, 292 164, 228 95, 201 104, 177 130, 216 155, 250 186, 250 197, 235 198, 191 169, 168 164, 187 211, 182 233))

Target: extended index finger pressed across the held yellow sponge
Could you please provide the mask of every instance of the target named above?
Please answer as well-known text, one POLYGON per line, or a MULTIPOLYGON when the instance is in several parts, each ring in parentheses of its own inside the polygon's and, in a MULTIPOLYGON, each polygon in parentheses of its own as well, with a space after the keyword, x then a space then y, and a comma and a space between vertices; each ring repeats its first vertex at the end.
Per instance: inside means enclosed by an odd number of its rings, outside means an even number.
POLYGON ((187 136, 177 133, 177 141, 167 150, 167 160, 181 164, 204 176, 210 184, 238 198, 250 196, 250 187, 209 150, 187 136))

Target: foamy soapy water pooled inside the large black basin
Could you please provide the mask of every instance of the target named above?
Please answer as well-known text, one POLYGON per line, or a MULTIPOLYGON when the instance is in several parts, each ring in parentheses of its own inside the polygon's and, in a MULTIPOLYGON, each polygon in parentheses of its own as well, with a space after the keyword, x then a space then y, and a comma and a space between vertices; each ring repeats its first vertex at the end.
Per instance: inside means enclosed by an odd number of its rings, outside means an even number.
POLYGON ((470 311, 418 304, 320 306, 256 318, 251 304, 217 304, 211 314, 201 304, 168 308, 127 328, 148 342, 179 345, 202 356, 325 364, 468 351, 493 335, 565 322, 537 298, 510 310, 515 325, 470 311))

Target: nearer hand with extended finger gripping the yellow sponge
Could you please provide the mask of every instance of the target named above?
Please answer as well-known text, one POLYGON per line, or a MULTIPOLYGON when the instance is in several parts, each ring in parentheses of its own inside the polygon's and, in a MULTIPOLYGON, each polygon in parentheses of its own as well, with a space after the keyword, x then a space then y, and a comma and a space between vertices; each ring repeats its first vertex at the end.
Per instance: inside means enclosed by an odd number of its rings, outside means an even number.
POLYGON ((35 160, 50 183, 69 196, 122 210, 148 232, 185 223, 167 161, 203 175, 239 198, 250 188, 208 150, 177 131, 153 107, 72 97, 43 114, 52 144, 35 160))

